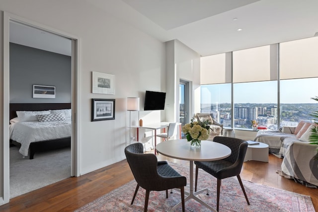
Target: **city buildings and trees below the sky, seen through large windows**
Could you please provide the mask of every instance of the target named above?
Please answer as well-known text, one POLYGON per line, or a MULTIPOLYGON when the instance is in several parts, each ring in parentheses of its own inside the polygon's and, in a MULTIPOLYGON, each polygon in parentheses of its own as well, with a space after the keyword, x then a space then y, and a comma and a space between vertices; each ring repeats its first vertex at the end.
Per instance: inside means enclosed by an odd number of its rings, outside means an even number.
MULTIPOLYGON (((277 130, 282 126, 297 126, 299 121, 313 122, 311 113, 318 108, 318 103, 282 104, 280 106, 280 121, 278 123, 277 104, 235 104, 234 128, 251 129, 251 121, 258 126, 277 130)), ((224 125, 232 127, 232 107, 230 103, 219 105, 201 104, 202 113, 210 113, 224 125)))

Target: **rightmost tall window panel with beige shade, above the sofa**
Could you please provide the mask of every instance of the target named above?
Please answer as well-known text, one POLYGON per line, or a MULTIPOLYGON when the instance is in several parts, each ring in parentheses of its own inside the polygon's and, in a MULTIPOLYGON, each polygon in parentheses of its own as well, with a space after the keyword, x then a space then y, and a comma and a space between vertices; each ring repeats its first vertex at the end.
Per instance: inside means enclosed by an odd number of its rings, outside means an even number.
POLYGON ((280 43, 280 123, 311 121, 318 104, 318 37, 280 43))

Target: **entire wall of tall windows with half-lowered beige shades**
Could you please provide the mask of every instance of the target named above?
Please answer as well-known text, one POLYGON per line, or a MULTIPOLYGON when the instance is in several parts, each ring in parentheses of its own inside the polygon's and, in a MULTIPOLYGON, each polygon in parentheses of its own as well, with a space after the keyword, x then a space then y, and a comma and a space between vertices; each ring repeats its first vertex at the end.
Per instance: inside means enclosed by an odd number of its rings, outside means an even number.
POLYGON ((318 96, 317 58, 318 37, 202 57, 201 110, 215 112, 224 127, 233 122, 236 129, 251 130, 253 120, 267 129, 310 121, 318 107, 311 99, 318 96), (208 77, 227 72, 230 83, 208 77))

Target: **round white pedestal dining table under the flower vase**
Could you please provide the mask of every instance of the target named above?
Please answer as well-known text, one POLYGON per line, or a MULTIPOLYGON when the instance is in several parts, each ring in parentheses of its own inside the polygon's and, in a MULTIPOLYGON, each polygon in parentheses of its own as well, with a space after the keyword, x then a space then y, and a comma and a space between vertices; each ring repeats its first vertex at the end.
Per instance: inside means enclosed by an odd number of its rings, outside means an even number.
MULTIPOLYGON (((226 145, 213 141, 201 141, 200 148, 193 148, 186 139, 179 139, 161 142, 156 146, 156 150, 167 157, 190 161, 190 193, 184 202, 193 199, 216 212, 215 209, 196 197, 196 195, 207 191, 207 188, 193 192, 193 161, 220 160, 228 157, 231 154, 231 149, 226 145)), ((174 206, 171 211, 174 211, 180 204, 174 206)))

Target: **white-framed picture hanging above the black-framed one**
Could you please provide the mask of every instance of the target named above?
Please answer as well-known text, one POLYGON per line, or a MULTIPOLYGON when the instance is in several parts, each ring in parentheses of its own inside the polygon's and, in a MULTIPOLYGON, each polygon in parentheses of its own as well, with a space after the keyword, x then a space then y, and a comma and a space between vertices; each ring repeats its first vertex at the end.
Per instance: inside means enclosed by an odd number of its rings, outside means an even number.
POLYGON ((92 93, 115 94, 115 76, 92 71, 92 93))

